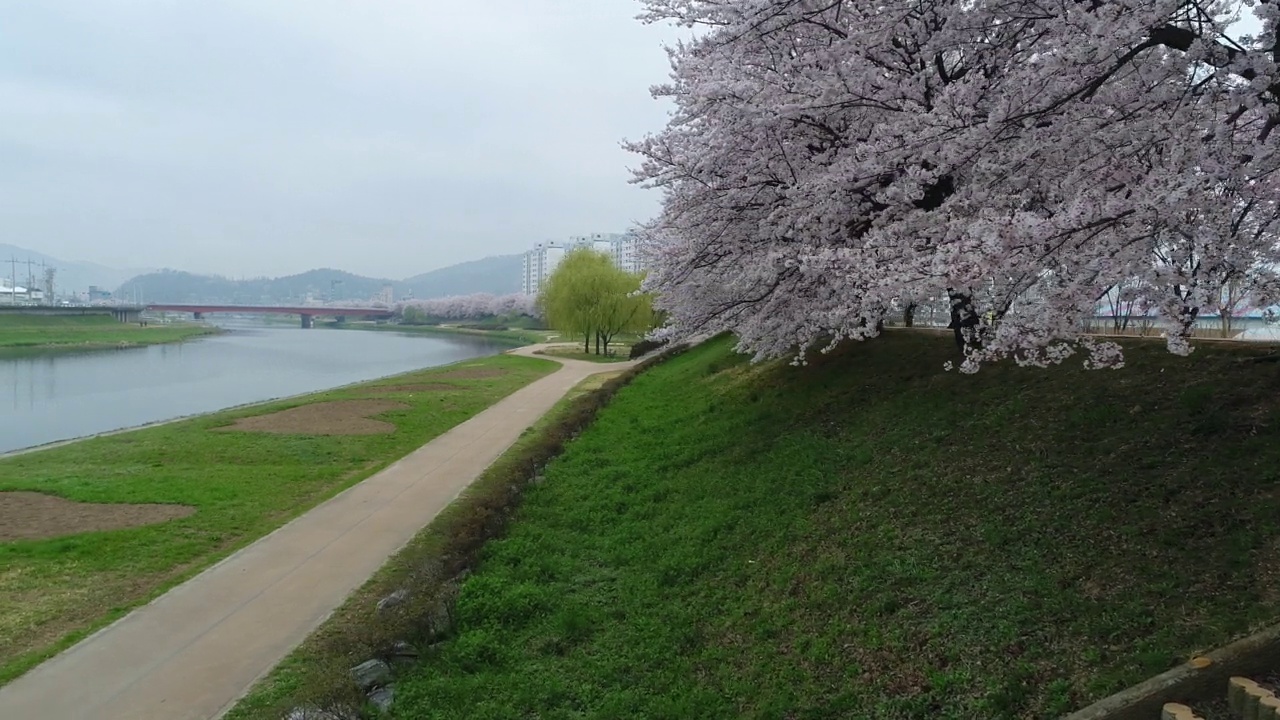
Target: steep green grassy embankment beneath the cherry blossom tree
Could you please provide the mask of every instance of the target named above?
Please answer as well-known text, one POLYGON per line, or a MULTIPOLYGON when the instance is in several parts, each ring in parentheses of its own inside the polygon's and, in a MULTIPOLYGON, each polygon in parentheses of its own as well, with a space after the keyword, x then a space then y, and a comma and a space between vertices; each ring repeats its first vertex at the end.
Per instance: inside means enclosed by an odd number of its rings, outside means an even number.
POLYGON ((1280 618, 1280 374, 1253 348, 942 373, 717 341, 527 491, 394 717, 1057 717, 1280 618))

